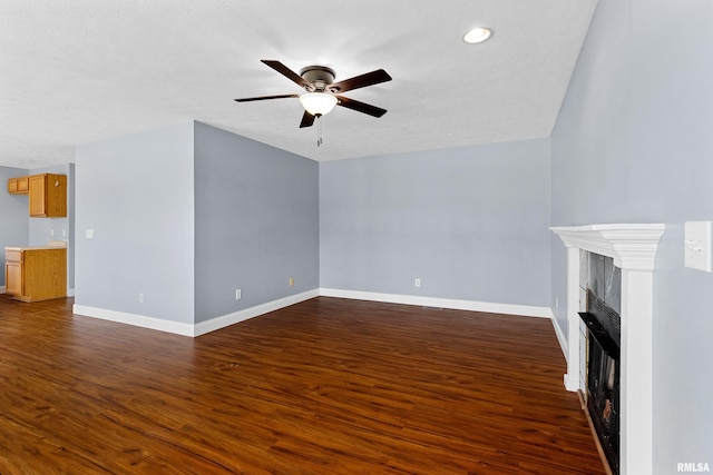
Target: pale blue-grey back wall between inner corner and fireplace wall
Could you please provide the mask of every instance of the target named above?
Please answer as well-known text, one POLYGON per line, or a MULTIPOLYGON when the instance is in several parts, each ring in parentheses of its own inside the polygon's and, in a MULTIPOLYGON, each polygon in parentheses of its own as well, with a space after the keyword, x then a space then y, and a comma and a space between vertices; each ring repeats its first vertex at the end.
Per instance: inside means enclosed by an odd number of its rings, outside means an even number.
POLYGON ((321 286, 549 307, 549 180, 547 139, 321 162, 321 286))

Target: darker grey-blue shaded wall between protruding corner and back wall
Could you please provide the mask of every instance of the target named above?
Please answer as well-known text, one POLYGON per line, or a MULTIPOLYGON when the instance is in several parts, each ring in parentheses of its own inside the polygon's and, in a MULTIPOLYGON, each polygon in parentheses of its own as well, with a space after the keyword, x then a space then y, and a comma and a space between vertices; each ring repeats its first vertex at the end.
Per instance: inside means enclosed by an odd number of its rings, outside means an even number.
POLYGON ((315 161, 196 122, 196 321, 319 287, 318 177, 315 161))

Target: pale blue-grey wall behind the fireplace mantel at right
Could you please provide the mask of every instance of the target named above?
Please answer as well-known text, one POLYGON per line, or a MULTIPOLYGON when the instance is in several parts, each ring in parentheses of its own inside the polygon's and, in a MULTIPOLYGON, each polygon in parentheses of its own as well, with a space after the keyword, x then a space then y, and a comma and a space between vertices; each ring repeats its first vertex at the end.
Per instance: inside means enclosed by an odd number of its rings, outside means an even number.
MULTIPOLYGON (((713 275, 683 266, 683 224, 713 220, 711 24, 709 0, 599 0, 551 137, 555 226, 666 224, 654 273, 655 474, 713 465, 713 275)), ((565 273, 553 239, 560 301, 565 273)), ((566 328, 564 306, 556 313, 566 328)))

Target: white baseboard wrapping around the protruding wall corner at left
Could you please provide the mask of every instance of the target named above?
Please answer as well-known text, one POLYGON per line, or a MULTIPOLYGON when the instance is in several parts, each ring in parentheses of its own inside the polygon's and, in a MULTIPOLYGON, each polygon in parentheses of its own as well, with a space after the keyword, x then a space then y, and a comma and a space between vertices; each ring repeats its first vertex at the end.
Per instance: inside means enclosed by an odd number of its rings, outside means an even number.
POLYGON ((119 324, 133 325, 141 328, 150 328, 160 331, 173 333, 183 336, 196 337, 211 331, 227 327, 248 318, 257 317, 270 311, 279 310, 290 305, 299 304, 310 298, 319 297, 319 290, 309 290, 302 294, 291 295, 277 300, 256 305, 233 314, 212 318, 199 324, 182 324, 178 321, 164 320, 160 318, 147 317, 145 315, 128 314, 125 311, 107 310, 106 308, 88 307, 75 304, 72 313, 84 317, 99 318, 102 320, 116 321, 119 324))

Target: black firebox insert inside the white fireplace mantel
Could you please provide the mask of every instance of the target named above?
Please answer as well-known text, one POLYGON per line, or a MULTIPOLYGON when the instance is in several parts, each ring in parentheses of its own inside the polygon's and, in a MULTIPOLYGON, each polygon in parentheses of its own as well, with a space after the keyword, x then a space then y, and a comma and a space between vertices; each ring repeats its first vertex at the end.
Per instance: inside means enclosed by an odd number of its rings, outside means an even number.
POLYGON ((612 468, 619 473, 619 345, 621 317, 587 290, 587 409, 612 468))

